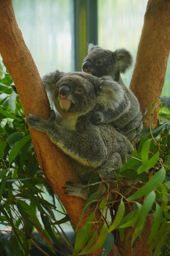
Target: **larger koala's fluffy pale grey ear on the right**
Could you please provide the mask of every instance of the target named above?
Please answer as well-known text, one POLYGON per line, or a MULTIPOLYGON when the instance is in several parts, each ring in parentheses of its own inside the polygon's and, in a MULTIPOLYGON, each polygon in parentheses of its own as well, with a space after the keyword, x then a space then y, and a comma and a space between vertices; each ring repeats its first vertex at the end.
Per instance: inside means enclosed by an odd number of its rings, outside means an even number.
POLYGON ((105 110, 115 109, 124 99, 124 88, 110 76, 100 78, 100 90, 97 94, 97 103, 105 110))

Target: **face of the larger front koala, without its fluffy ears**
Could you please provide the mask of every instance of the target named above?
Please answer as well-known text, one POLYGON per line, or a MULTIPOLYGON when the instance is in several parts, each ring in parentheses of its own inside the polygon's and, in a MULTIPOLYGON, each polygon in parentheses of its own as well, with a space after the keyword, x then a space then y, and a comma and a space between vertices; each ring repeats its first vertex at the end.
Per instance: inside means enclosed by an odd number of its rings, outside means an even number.
POLYGON ((55 107, 60 114, 84 114, 94 108, 100 90, 97 79, 89 74, 67 74, 56 83, 55 107))

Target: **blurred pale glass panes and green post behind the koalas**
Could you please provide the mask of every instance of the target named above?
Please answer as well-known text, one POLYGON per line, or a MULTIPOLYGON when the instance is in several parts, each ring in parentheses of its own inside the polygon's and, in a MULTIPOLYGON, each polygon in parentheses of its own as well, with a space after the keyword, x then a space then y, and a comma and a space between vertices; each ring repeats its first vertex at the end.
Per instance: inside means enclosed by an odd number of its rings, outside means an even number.
MULTIPOLYGON (((80 71, 88 43, 137 54, 148 0, 13 0, 40 75, 80 71)), ((129 86, 132 71, 123 76, 129 86)), ((170 96, 170 58, 162 95, 170 96)))

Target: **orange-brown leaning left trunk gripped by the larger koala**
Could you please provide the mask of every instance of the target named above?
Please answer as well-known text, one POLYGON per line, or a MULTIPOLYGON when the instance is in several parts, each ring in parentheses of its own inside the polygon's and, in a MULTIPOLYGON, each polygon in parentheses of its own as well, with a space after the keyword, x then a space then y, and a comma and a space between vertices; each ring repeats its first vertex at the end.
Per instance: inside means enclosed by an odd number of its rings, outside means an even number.
MULTIPOLYGON (((32 113, 47 119, 50 111, 49 100, 37 67, 16 23, 12 0, 0 0, 0 17, 0 54, 15 83, 24 113, 25 115, 32 113)), ((45 133, 31 128, 30 132, 38 163, 64 205, 68 216, 77 227, 85 201, 64 194, 62 186, 65 186, 68 180, 79 182, 79 178, 68 162, 67 156, 45 133)), ((83 216, 79 228, 84 225, 93 209, 91 207, 83 216)), ((99 255, 99 252, 93 255, 99 255)))

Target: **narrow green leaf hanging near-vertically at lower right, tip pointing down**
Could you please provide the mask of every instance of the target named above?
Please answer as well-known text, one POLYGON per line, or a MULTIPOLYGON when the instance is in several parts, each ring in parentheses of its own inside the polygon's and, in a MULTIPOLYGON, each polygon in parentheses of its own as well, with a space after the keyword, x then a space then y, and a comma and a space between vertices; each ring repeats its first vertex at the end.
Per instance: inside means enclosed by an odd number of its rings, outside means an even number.
POLYGON ((154 214, 154 223, 152 230, 150 232, 149 238, 148 238, 148 243, 152 241, 154 238, 155 234, 159 230, 161 223, 163 221, 163 212, 159 204, 156 203, 156 209, 155 209, 155 214, 154 214))

